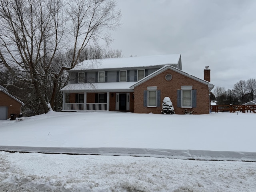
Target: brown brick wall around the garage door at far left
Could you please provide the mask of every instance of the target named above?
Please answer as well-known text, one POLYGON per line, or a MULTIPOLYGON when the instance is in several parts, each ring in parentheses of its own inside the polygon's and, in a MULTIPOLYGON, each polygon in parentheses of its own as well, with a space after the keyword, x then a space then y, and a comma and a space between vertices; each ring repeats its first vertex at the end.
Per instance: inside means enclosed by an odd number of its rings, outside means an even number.
POLYGON ((8 106, 8 118, 11 118, 10 114, 12 113, 20 114, 20 107, 22 104, 2 91, 0 92, 0 98, 0 106, 8 106))

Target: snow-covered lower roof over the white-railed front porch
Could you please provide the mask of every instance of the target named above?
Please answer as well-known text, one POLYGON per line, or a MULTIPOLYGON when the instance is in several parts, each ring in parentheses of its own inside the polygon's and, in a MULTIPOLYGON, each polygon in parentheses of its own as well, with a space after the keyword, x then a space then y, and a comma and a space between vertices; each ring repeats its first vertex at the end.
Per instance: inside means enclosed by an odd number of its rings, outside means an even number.
POLYGON ((111 83, 76 83, 68 84, 62 92, 133 92, 130 88, 134 82, 111 82, 111 83))

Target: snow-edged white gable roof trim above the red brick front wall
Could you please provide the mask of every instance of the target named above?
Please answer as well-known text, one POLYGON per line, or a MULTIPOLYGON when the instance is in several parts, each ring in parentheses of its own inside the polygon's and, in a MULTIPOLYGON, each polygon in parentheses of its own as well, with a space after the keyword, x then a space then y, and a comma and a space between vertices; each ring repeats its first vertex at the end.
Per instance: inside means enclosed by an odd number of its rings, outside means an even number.
POLYGON ((212 88, 214 87, 213 84, 211 84, 210 82, 208 82, 208 81, 206 81, 206 80, 202 80, 202 79, 200 79, 200 78, 197 78, 197 77, 195 77, 195 76, 192 76, 192 75, 190 75, 190 74, 188 74, 188 73, 185 73, 184 71, 179 70, 179 69, 177 69, 177 68, 175 68, 175 67, 173 67, 173 66, 166 65, 166 66, 163 66, 162 68, 160 68, 159 70, 153 72, 152 74, 150 74, 150 75, 144 77, 144 78, 141 79, 140 81, 136 82, 134 85, 130 86, 130 88, 131 88, 131 89, 134 89, 136 86, 138 86, 138 85, 140 85, 140 84, 146 82, 147 80, 149 80, 149 79, 151 79, 151 78, 157 76, 158 74, 160 74, 160 73, 162 73, 162 72, 164 72, 164 71, 166 71, 166 70, 168 70, 168 69, 173 70, 173 71, 175 71, 175 72, 177 72, 177 73, 180 73, 180 74, 182 74, 182 75, 184 75, 184 76, 187 76, 188 78, 194 79, 194 80, 196 80, 196 81, 198 81, 198 82, 201 82, 202 84, 206 84, 206 85, 208 85, 208 88, 209 88, 209 89, 212 89, 212 88))

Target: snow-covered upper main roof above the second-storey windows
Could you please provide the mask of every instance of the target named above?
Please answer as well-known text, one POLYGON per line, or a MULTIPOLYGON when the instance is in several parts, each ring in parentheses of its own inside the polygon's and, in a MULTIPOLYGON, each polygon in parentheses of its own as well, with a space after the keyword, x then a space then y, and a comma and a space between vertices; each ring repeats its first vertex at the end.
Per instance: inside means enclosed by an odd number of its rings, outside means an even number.
POLYGON ((72 70, 134 68, 161 65, 172 65, 182 70, 181 55, 172 54, 84 60, 83 62, 77 64, 72 70))

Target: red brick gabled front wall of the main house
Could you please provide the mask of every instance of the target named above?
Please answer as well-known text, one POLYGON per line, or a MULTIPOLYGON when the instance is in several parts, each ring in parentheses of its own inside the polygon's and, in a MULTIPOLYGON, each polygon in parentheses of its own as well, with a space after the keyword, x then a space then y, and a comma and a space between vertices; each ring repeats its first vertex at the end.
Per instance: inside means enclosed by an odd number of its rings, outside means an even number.
POLYGON ((161 74, 158 74, 154 78, 136 86, 134 89, 134 113, 156 113, 160 114, 162 109, 162 102, 164 97, 170 97, 176 114, 184 114, 183 108, 177 107, 177 90, 181 89, 180 86, 193 86, 192 89, 196 89, 197 102, 196 108, 192 108, 193 114, 208 114, 209 113, 209 91, 208 86, 202 84, 196 80, 193 80, 187 76, 179 74, 173 70, 166 70, 161 74), (167 74, 172 75, 172 80, 167 81, 165 76, 167 74), (157 86, 157 90, 161 90, 161 106, 160 107, 144 107, 144 90, 147 90, 148 86, 157 86))

